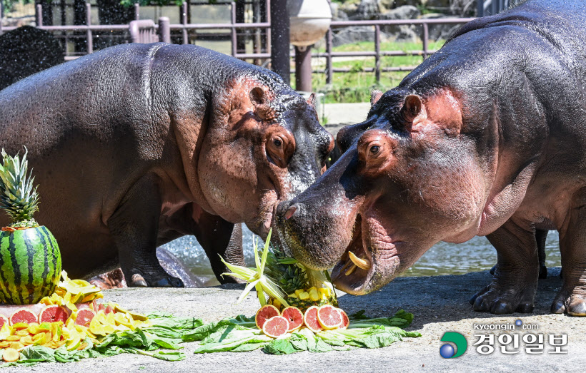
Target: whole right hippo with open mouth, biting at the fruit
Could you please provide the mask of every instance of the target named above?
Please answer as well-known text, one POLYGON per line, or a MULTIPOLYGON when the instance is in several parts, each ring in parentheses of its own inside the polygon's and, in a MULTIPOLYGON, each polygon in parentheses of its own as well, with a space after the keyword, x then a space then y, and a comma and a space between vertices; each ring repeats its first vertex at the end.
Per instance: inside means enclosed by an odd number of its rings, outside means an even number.
POLYGON ((529 0, 462 26, 374 92, 367 119, 338 133, 341 158, 279 204, 284 250, 364 295, 436 242, 487 236, 497 267, 471 303, 505 314, 532 312, 536 233, 557 230, 564 275, 551 311, 585 316, 584 40, 582 1, 529 0))

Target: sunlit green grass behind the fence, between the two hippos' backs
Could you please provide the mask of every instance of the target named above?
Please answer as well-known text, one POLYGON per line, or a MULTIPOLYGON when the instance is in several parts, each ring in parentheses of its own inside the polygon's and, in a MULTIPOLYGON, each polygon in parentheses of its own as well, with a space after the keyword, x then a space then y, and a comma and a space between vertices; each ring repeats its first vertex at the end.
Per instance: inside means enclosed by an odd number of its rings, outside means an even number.
MULTIPOLYGON (((429 50, 437 50, 444 44, 444 41, 429 41, 429 50)), ((381 43, 381 51, 419 51, 422 49, 421 43, 395 42, 387 41, 381 43)), ((315 48, 314 51, 324 52, 324 48, 315 48)), ((374 51, 374 42, 361 41, 354 44, 344 44, 332 48, 332 51, 374 51)), ((384 56, 381 57, 380 66, 383 67, 408 67, 417 66, 422 63, 422 56, 384 56)), ((324 73, 314 73, 313 86, 314 90, 324 93, 326 103, 352 103, 367 102, 370 99, 372 89, 387 91, 397 86, 402 79, 407 76, 409 71, 390 71, 381 72, 380 82, 377 83, 374 77, 374 71, 367 72, 365 69, 374 68, 374 57, 360 58, 333 58, 332 66, 334 68, 349 68, 349 73, 334 73, 332 84, 326 84, 326 75, 324 73)), ((314 66, 323 69, 325 66, 314 66)), ((292 76, 294 81, 294 76, 292 76)))

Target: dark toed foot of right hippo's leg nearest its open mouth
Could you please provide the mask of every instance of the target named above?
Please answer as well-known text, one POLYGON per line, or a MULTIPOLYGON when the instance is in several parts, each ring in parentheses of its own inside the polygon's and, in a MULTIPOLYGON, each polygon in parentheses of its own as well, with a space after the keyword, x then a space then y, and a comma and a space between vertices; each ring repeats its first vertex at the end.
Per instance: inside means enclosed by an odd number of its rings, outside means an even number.
POLYGON ((535 287, 525 287, 524 290, 502 287, 496 281, 477 292, 470 299, 470 304, 478 312, 491 312, 497 315, 533 311, 535 287))

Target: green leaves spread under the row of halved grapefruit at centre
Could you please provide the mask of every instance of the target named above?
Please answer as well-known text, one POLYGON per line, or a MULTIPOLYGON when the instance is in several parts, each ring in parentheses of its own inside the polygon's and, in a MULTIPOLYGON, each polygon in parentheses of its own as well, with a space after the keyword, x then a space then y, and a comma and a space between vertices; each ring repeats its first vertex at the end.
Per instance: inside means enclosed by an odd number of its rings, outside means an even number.
POLYGON ((387 347, 403 337, 420 337, 419 332, 406 332, 413 315, 400 310, 393 317, 369 319, 364 311, 352 315, 348 329, 324 330, 314 334, 307 328, 299 329, 285 338, 272 339, 250 321, 240 315, 234 319, 211 322, 194 330, 202 343, 194 353, 244 352, 260 347, 269 354, 292 354, 294 352, 329 352, 354 348, 387 347), (251 325, 252 323, 252 325, 251 325))

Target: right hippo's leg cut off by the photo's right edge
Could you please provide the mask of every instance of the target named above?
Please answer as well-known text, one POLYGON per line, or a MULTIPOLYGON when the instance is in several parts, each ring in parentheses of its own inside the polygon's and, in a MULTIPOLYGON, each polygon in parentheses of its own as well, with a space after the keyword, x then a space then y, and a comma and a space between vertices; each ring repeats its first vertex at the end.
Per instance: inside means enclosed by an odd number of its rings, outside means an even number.
POLYGON ((563 285, 552 303, 552 312, 586 316, 586 207, 570 213, 570 223, 560 232, 563 285))

